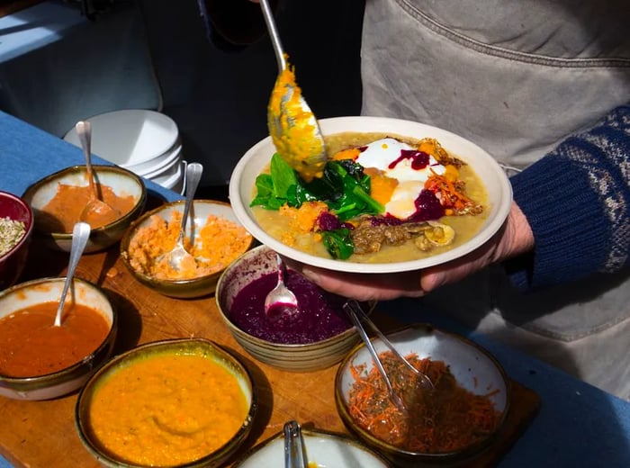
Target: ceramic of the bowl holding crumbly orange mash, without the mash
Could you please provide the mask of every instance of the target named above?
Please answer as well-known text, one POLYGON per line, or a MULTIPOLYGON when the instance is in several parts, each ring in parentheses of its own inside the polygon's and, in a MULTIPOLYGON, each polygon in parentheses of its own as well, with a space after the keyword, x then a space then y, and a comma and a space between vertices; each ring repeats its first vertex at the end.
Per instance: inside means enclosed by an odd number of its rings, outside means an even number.
MULTIPOLYGON (((151 217, 159 216, 164 220, 170 220, 171 213, 173 211, 184 212, 184 201, 163 204, 155 210, 144 213, 138 220, 135 220, 131 224, 130 228, 121 239, 122 263, 124 263, 131 275, 133 275, 139 283, 144 284, 166 296, 187 299, 202 297, 214 293, 217 281, 219 280, 221 273, 223 273, 224 268, 221 268, 211 275, 198 276, 196 278, 185 280, 167 280, 148 275, 131 266, 129 252, 131 239, 138 233, 139 229, 145 228, 151 223, 151 217)), ((240 223, 234 215, 234 211, 232 211, 229 203, 213 200, 194 200, 193 207, 191 208, 191 216, 194 219, 195 225, 195 242, 199 241, 199 231, 205 225, 210 215, 224 218, 225 220, 232 221, 240 226, 240 223)), ((188 222, 186 225, 186 236, 189 237, 190 235, 191 223, 188 222)), ((248 234, 247 236, 247 248, 249 248, 252 246, 254 238, 248 234)), ((238 257, 246 250, 247 249, 244 249, 242 252, 235 252, 234 257, 238 257)))

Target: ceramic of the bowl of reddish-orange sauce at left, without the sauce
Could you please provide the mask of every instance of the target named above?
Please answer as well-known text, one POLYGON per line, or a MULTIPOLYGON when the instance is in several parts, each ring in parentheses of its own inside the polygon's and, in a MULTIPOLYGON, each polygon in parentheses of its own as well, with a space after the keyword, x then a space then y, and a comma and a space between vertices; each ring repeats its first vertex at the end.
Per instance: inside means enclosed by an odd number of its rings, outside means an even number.
MULTIPOLYGON (((0 320, 15 311, 41 302, 58 302, 65 279, 42 278, 15 284, 0 292, 0 320)), ((118 328, 117 314, 112 303, 103 290, 94 284, 76 277, 73 284, 75 291, 73 297, 76 298, 76 302, 100 312, 109 324, 107 336, 90 355, 58 372, 35 377, 10 377, 0 374, 0 395, 15 400, 49 400, 66 395, 81 387, 94 369, 111 356, 118 328)), ((51 322, 50 326, 52 325, 51 322)))

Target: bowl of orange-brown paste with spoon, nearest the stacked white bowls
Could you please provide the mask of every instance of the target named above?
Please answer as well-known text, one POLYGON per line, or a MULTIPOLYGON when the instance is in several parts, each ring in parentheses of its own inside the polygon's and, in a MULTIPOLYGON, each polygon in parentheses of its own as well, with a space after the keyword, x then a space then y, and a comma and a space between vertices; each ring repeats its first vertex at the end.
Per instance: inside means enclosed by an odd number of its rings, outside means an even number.
POLYGON ((100 199, 120 213, 114 219, 94 213, 81 219, 93 196, 85 166, 66 167, 47 175, 23 193, 33 211, 34 236, 49 247, 69 252, 72 229, 77 221, 84 220, 92 228, 85 253, 103 250, 121 240, 131 221, 144 210, 147 189, 139 175, 119 166, 96 165, 93 169, 100 199))

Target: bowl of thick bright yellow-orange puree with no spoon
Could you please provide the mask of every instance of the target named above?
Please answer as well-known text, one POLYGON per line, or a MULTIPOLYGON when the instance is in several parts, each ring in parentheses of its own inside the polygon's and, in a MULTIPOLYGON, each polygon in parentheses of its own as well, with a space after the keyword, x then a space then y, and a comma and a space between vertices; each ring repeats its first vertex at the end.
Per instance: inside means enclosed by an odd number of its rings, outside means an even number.
POLYGON ((256 388, 236 356, 178 338, 103 365, 79 393, 75 425, 104 466, 214 467, 235 454, 256 412, 256 388))

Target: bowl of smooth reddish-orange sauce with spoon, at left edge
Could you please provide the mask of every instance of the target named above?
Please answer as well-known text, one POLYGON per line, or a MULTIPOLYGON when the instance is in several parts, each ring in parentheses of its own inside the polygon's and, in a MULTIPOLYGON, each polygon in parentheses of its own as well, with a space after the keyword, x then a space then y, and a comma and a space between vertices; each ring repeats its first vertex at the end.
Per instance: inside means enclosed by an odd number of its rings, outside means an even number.
POLYGON ((112 354, 117 314, 98 286, 73 280, 54 326, 65 278, 0 292, 0 395, 49 400, 75 392, 112 354))

